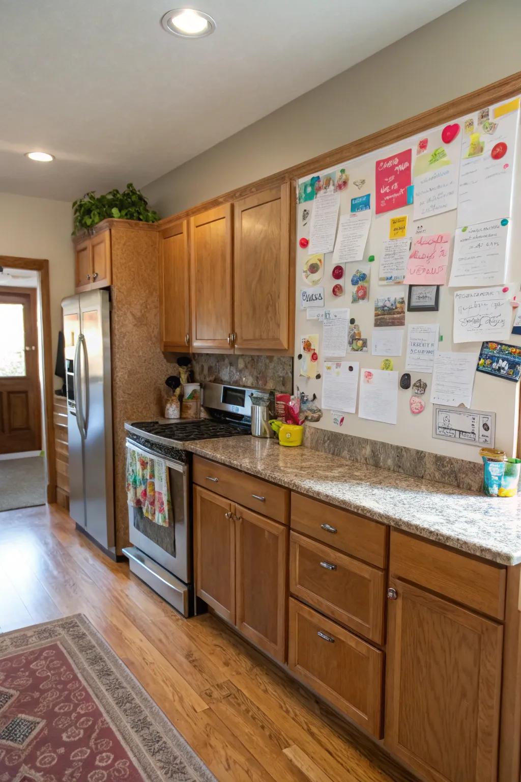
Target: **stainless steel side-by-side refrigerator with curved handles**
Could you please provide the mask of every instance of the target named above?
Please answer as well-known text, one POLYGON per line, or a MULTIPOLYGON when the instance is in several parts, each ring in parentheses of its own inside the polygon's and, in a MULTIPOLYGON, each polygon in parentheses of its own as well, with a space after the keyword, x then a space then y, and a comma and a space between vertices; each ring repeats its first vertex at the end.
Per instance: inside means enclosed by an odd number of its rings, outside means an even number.
POLYGON ((110 303, 105 290, 62 300, 70 516, 115 558, 110 303))

